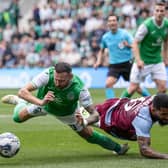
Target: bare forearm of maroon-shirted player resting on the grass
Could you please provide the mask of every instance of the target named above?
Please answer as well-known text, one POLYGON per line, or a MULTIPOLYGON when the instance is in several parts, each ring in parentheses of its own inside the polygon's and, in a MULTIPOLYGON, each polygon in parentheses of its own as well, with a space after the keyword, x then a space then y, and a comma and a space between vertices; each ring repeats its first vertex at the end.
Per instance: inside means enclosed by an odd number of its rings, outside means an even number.
POLYGON ((137 137, 137 142, 142 156, 153 159, 168 159, 168 154, 156 152, 150 147, 150 138, 137 137))

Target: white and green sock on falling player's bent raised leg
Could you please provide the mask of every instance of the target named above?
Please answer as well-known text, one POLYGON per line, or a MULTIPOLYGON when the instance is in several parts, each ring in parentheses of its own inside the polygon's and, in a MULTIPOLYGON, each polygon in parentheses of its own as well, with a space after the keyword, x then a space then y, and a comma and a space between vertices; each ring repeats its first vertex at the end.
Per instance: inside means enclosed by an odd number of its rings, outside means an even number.
POLYGON ((13 120, 15 122, 18 122, 18 123, 22 122, 21 119, 19 118, 19 113, 26 106, 27 106, 26 103, 19 103, 15 106, 14 112, 13 112, 13 120))

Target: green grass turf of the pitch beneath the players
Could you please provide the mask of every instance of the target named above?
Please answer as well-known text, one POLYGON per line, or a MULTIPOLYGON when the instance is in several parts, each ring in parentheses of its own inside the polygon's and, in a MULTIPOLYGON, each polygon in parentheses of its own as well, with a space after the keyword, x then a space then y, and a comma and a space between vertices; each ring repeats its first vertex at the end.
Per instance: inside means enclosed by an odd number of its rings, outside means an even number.
MULTIPOLYGON (((0 90, 0 97, 16 90, 0 90)), ((102 102, 103 89, 91 90, 95 103, 102 102)), ((154 90, 151 91, 154 93, 154 90)), ((119 96, 121 90, 117 89, 119 96)), ((135 95, 137 96, 137 95, 135 95)), ((12 121, 12 105, 0 103, 0 132, 13 132, 21 140, 20 152, 13 158, 0 158, 1 167, 15 168, 166 168, 168 161, 146 159, 139 155, 136 142, 129 142, 125 156, 91 145, 52 116, 33 118, 25 123, 12 121)), ((114 138, 113 138, 114 139, 114 138)), ((120 143, 121 141, 115 139, 120 143)), ((152 147, 168 153, 168 128, 152 129, 152 147)))

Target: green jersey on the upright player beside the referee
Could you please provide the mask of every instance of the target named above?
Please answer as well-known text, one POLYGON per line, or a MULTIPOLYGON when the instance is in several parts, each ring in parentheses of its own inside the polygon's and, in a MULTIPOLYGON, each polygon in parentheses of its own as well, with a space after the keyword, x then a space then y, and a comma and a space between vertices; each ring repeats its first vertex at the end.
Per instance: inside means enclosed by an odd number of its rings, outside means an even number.
POLYGON ((145 64, 160 63, 163 40, 168 37, 168 19, 164 18, 160 27, 156 25, 153 17, 145 20, 144 24, 148 33, 139 45, 141 59, 145 64))

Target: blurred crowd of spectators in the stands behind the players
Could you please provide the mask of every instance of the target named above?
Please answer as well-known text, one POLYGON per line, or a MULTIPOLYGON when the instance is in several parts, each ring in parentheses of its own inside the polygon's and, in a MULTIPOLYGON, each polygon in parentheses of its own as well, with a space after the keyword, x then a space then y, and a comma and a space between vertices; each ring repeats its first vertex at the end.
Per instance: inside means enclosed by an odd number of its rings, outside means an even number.
MULTIPOLYGON (((35 4, 29 31, 19 30, 18 0, 0 15, 0 68, 48 67, 59 61, 92 67, 107 16, 115 13, 120 26, 134 35, 152 15, 153 0, 48 0, 35 4), (2 20, 2 22, 1 22, 2 20)), ((108 65, 108 53, 104 64, 108 65)))

